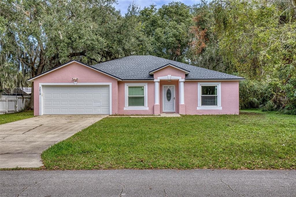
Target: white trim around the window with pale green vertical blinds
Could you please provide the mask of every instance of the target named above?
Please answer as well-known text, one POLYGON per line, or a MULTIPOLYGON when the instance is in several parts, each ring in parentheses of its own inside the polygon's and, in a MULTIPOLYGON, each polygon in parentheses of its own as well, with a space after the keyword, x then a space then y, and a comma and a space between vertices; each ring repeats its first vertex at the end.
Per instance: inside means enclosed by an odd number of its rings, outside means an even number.
POLYGON ((149 110, 148 107, 148 83, 125 83, 124 84, 124 108, 123 110, 149 110), (144 104, 145 106, 128 106, 128 86, 144 86, 144 104))

